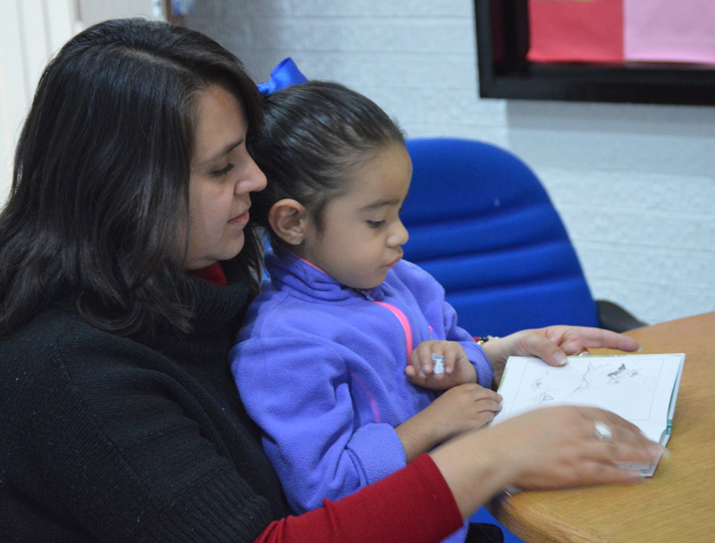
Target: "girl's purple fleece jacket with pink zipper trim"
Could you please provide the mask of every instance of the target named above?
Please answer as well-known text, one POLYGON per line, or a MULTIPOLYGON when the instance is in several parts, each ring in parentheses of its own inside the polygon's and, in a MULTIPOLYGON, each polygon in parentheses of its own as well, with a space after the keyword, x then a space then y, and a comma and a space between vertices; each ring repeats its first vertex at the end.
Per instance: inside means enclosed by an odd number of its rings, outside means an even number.
POLYGON ((420 267, 400 261, 383 284, 356 291, 279 254, 265 257, 270 280, 248 309, 231 370, 290 505, 302 513, 405 466, 394 428, 436 397, 405 377, 412 347, 458 342, 482 386, 492 367, 420 267))

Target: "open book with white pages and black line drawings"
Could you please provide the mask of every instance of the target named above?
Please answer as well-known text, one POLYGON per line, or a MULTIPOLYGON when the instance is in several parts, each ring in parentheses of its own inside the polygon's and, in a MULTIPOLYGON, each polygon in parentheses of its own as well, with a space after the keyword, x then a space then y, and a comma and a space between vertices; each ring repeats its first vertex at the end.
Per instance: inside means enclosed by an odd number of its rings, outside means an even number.
MULTIPOLYGON (((646 437, 666 445, 676 408, 684 353, 571 356, 556 368, 532 357, 512 356, 501 378, 502 420, 550 405, 584 405, 613 411, 646 437)), ((630 466, 646 477, 658 462, 630 466)))

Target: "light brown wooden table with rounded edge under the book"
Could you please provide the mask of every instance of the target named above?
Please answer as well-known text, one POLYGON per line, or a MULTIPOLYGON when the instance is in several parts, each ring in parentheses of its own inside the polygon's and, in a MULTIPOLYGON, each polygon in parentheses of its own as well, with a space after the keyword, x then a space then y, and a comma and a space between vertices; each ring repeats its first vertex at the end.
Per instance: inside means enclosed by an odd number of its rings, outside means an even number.
MULTIPOLYGON (((644 353, 685 352, 668 442, 651 479, 628 486, 529 491, 492 514, 528 543, 715 541, 715 312, 628 332, 644 353)), ((594 353, 612 353, 597 350, 594 353)))

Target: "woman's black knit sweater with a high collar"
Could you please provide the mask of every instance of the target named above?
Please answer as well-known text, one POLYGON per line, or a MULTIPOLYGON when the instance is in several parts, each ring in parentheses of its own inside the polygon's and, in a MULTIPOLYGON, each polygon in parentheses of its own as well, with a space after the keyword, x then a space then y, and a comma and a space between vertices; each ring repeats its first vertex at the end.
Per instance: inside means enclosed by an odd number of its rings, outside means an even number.
POLYGON ((198 283, 163 352, 71 310, 0 338, 0 539, 249 541, 288 513, 226 362, 246 288, 198 283))

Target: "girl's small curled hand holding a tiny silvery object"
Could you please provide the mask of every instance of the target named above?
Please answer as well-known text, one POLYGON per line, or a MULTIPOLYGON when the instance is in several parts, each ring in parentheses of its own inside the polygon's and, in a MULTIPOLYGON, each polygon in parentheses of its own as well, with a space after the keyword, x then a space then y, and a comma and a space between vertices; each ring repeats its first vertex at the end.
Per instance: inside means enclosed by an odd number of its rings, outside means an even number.
POLYGON ((475 367, 467 359, 464 348, 453 341, 427 340, 418 344, 409 356, 405 374, 413 385, 432 390, 476 382, 475 367), (435 371, 433 354, 443 357, 443 371, 435 371))

